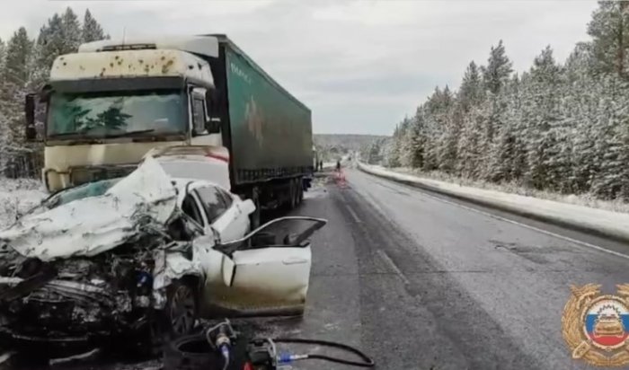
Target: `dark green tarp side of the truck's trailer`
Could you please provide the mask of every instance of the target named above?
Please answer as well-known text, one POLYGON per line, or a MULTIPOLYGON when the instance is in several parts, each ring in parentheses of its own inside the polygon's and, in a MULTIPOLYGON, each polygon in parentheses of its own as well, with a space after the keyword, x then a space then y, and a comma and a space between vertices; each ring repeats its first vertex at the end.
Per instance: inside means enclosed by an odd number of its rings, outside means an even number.
POLYGON ((219 40, 225 57, 234 183, 311 173, 310 110, 231 41, 219 40))

